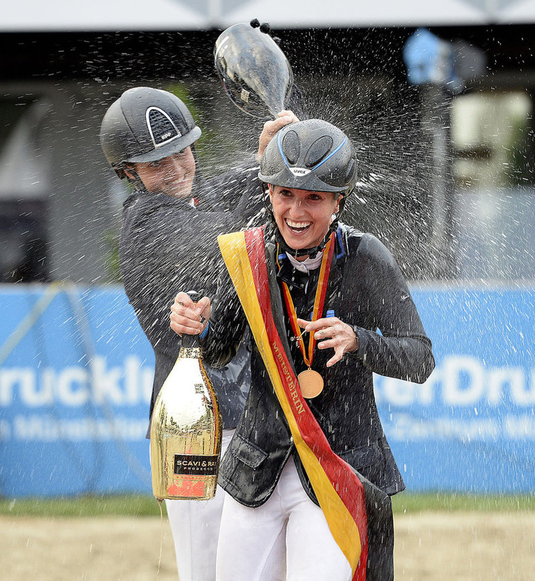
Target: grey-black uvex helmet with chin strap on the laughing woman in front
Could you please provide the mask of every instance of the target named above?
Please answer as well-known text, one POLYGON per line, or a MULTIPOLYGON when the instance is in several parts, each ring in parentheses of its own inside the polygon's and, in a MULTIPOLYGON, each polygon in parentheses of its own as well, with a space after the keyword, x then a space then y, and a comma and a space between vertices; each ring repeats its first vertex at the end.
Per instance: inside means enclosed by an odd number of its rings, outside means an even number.
MULTIPOLYGON (((356 183, 356 154, 351 140, 338 127, 320 119, 308 119, 283 126, 268 143, 260 163, 258 179, 272 186, 333 192, 345 198, 356 183)), ((279 243, 295 256, 315 256, 338 224, 338 217, 322 244, 314 248, 290 249, 277 229, 279 243)))

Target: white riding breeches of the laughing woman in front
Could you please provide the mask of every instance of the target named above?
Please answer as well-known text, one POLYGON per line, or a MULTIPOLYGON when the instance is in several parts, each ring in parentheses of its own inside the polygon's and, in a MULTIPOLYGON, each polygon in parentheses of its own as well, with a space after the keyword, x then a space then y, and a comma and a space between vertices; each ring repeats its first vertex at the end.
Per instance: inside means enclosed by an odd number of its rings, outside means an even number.
POLYGON ((217 581, 351 578, 349 562, 334 541, 322 509, 304 491, 293 458, 260 507, 245 507, 224 494, 217 581))

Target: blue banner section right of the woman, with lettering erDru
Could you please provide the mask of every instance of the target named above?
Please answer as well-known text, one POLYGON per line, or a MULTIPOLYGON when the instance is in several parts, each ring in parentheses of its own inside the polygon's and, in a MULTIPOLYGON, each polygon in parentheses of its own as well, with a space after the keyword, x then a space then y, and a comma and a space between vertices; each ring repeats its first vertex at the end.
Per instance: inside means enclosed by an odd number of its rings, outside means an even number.
POLYGON ((436 369, 423 385, 375 377, 408 489, 535 491, 535 291, 412 291, 436 369))

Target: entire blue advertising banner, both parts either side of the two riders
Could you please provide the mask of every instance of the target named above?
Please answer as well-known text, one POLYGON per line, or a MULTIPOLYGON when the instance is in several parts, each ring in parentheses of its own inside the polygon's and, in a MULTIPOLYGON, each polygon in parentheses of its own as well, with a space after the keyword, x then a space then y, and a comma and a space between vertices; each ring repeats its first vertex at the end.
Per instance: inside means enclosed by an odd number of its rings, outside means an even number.
MULTIPOLYGON (((423 385, 375 377, 413 491, 535 491, 535 289, 413 288, 423 385)), ((0 289, 0 495, 151 493, 154 355, 120 287, 0 289)))

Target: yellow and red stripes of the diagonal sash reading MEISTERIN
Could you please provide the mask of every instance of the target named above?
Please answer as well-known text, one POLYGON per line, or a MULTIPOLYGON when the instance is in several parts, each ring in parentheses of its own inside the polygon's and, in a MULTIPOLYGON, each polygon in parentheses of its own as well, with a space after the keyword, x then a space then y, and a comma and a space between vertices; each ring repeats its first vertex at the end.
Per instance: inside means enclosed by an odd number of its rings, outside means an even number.
POLYGON ((368 523, 363 484, 331 450, 302 397, 272 312, 264 231, 254 228, 223 234, 217 242, 334 540, 352 567, 353 581, 364 581, 368 523))

